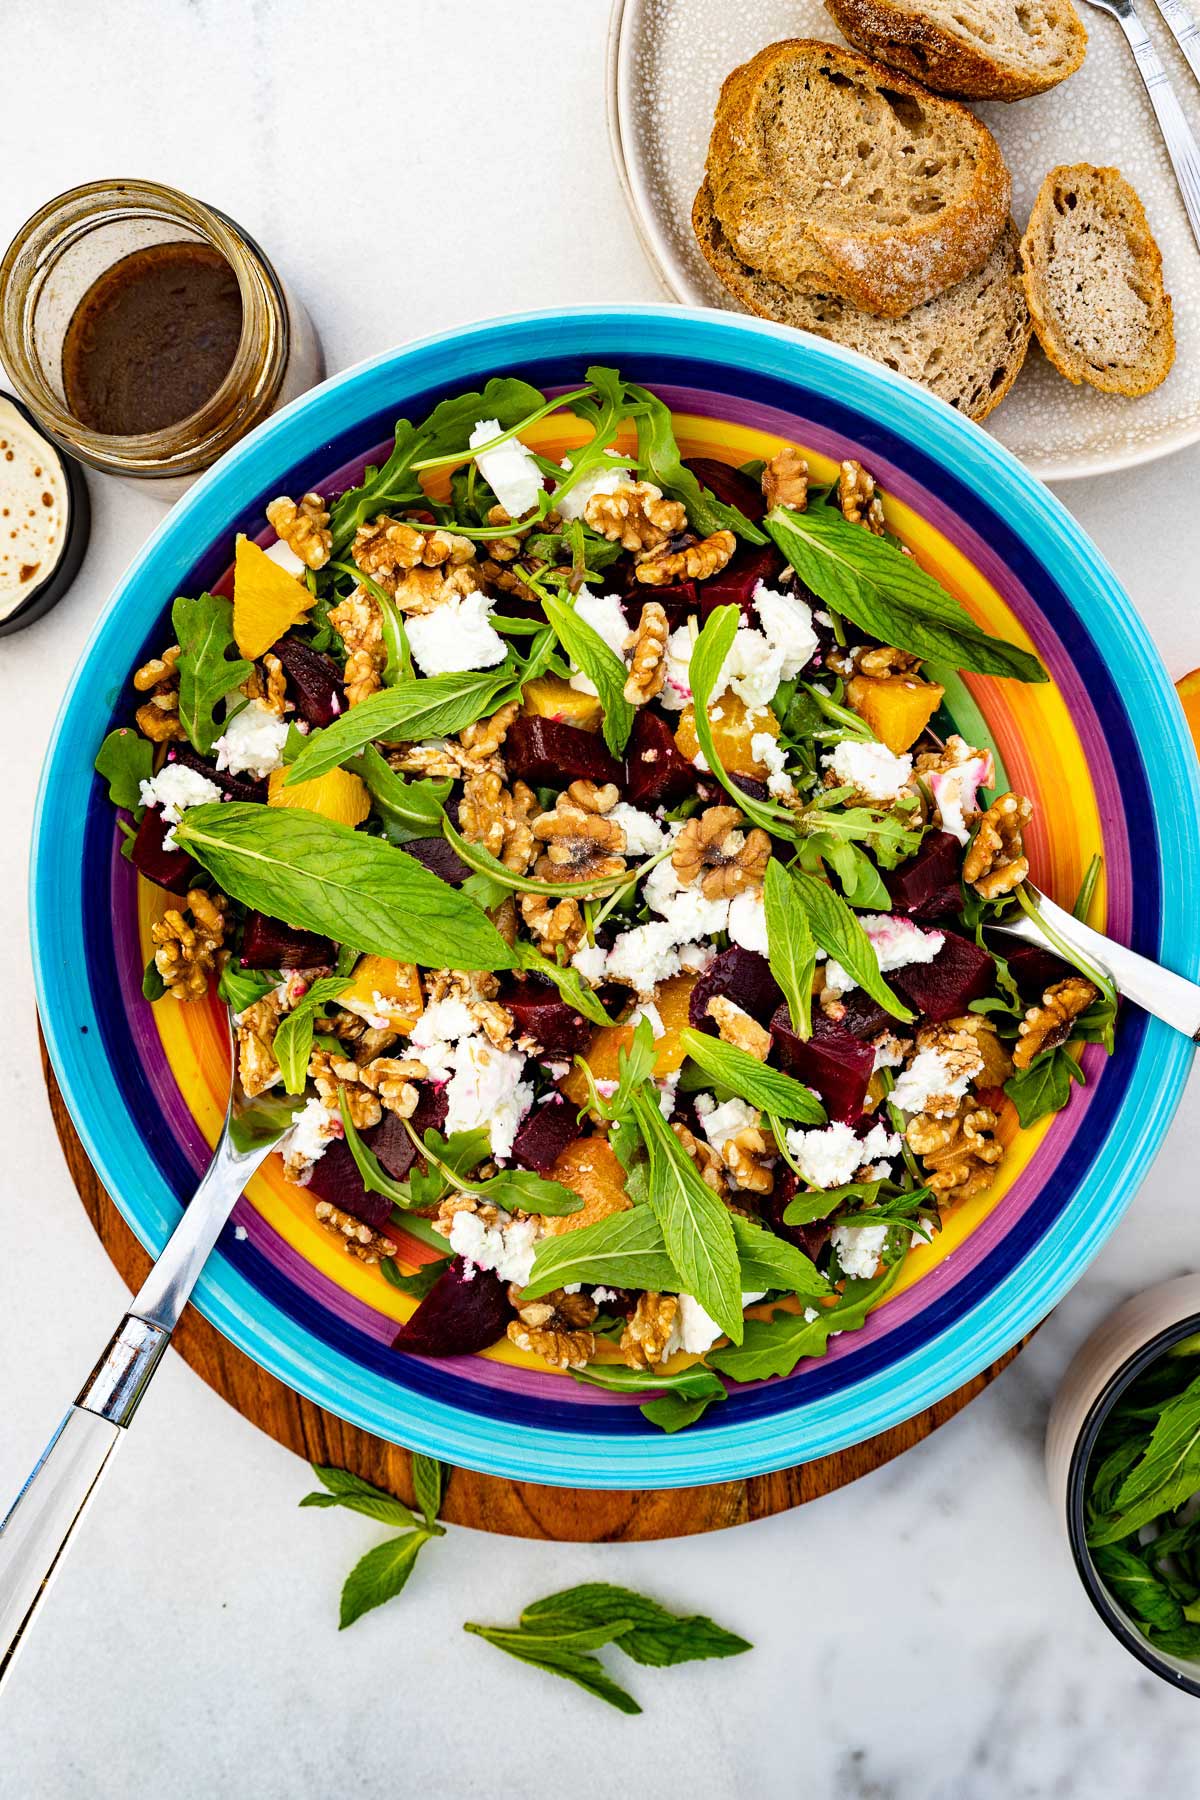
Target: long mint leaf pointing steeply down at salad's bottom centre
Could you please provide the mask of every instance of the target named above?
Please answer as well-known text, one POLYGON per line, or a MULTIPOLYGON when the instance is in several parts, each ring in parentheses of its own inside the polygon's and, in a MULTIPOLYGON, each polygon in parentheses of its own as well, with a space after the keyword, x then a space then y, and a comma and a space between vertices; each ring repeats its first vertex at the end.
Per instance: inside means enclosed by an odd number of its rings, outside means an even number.
POLYGON ((635 1089, 630 1111, 649 1152, 649 1208, 662 1226, 680 1287, 727 1337, 741 1343, 741 1267, 732 1219, 658 1111, 658 1096, 635 1089))

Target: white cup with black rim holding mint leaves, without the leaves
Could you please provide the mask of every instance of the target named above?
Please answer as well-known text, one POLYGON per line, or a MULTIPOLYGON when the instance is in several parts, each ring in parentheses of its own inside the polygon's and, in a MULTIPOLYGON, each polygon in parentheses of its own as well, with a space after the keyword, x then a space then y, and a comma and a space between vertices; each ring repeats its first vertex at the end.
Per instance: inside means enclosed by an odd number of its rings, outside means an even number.
POLYGON ((1096 1573, 1083 1525, 1087 1469, 1108 1413, 1137 1375, 1196 1332, 1200 1274, 1180 1274, 1117 1307, 1087 1339, 1054 1395, 1045 1427, 1045 1472, 1085 1593, 1114 1638, 1171 1687, 1200 1696, 1200 1658, 1168 1656, 1142 1636, 1096 1573))

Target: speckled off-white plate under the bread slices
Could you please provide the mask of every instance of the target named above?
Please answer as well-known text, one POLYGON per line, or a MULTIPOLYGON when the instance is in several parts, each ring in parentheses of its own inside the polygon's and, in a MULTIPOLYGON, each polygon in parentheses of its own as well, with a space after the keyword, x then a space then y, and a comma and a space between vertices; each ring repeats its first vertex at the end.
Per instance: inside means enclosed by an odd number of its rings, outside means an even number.
MULTIPOLYGON (((1195 77, 1150 0, 1142 11, 1200 135, 1195 77)), ((1088 54, 1078 74, 1036 99, 977 110, 1013 171, 1013 212, 1022 229, 1042 178, 1060 162, 1115 164, 1133 182, 1162 248, 1178 349, 1162 387, 1126 400, 1072 387, 1034 342, 988 430, 1047 481, 1148 463, 1200 437, 1200 254, 1121 27, 1090 7, 1081 13, 1088 54)), ((842 41, 820 0, 613 0, 613 155, 646 254, 676 301, 738 311, 696 248, 691 203, 721 81, 779 38, 842 41)))

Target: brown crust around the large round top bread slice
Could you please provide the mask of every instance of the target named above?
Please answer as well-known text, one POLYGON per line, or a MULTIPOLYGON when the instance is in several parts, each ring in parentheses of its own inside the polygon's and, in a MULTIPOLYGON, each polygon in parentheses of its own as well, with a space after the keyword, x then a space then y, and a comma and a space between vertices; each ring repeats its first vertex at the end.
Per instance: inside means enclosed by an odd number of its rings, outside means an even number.
MULTIPOLYGON (((936 148, 936 146, 934 146, 936 148)), ((973 274, 1006 227, 1011 178, 988 128, 957 101, 934 95, 907 76, 829 43, 788 38, 734 68, 721 86, 709 142, 707 176, 716 216, 738 256, 775 281, 820 284, 869 313, 901 317, 973 274), (970 144, 970 193, 928 216, 891 227, 864 214, 862 227, 822 221, 790 209, 763 166, 759 103, 819 65, 833 81, 885 92, 898 112, 910 104, 941 117, 948 139, 970 144)))

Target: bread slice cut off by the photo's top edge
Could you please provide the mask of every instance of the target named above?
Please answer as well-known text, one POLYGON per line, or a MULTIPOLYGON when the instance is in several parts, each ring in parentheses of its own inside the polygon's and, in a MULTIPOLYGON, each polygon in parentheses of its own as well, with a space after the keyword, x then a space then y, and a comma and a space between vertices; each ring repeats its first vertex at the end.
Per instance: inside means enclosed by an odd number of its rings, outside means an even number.
POLYGON ((1070 0, 826 0, 826 9, 860 50, 959 99, 1043 94, 1087 54, 1070 0))

